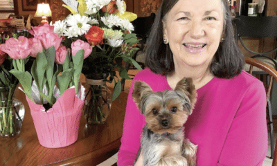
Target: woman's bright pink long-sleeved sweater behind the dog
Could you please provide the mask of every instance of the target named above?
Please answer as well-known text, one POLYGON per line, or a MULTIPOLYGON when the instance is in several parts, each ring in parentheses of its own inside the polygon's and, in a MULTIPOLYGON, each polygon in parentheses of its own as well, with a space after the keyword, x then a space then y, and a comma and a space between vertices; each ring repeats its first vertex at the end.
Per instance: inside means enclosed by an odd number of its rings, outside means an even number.
MULTIPOLYGON (((146 68, 134 77, 153 91, 171 89, 166 76, 146 68)), ((145 124, 132 100, 132 87, 127 99, 123 137, 118 165, 134 165, 145 124)), ((262 165, 267 154, 265 88, 259 80, 242 71, 231 79, 214 77, 197 90, 193 114, 188 117, 185 137, 198 145, 197 166, 262 165)))

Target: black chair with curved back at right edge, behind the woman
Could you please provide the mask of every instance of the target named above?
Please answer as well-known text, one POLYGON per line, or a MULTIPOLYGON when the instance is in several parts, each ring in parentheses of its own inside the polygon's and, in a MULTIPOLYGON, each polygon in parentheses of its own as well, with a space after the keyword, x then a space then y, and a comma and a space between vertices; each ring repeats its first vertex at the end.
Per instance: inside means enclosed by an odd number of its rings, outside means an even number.
MULTIPOLYGON (((252 53, 252 58, 255 58, 259 60, 260 62, 264 62, 265 64, 268 64, 269 66, 277 69, 277 61, 276 57, 271 58, 270 54, 274 53, 276 54, 277 46, 275 48, 272 48, 272 50, 268 51, 256 51, 252 50, 251 48, 248 48, 245 46, 244 41, 242 40, 242 37, 256 37, 256 38, 276 38, 277 37, 277 16, 271 16, 271 17, 247 17, 247 16, 238 16, 235 17, 233 20, 235 22, 235 31, 237 33, 237 37, 240 41, 240 44, 249 51, 249 53, 252 53)), ((245 71, 249 71, 249 64, 245 65, 244 67, 245 71)), ((270 74, 267 71, 260 70, 260 68, 253 68, 253 74, 255 75, 265 75, 267 77, 268 81, 265 81, 265 83, 270 87, 272 86, 272 82, 269 83, 269 77, 270 74)), ((273 80, 272 80, 273 81, 273 80)), ((269 136, 271 139, 271 155, 270 158, 274 155, 274 127, 273 127, 273 118, 272 118, 272 109, 271 109, 271 99, 267 100, 267 115, 268 115, 268 124, 269 124, 269 136)), ((274 101, 272 101, 274 102, 274 101)))

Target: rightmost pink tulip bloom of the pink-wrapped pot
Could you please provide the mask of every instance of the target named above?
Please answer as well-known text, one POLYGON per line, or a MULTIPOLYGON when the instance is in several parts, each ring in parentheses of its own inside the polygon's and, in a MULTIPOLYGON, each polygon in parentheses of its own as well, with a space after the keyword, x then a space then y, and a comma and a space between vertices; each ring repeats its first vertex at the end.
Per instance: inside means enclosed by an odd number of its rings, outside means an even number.
POLYGON ((84 49, 84 59, 87 58, 92 51, 92 47, 87 43, 80 39, 78 39, 75 42, 72 42, 71 44, 72 48, 72 55, 75 56, 75 54, 78 52, 78 50, 84 49))

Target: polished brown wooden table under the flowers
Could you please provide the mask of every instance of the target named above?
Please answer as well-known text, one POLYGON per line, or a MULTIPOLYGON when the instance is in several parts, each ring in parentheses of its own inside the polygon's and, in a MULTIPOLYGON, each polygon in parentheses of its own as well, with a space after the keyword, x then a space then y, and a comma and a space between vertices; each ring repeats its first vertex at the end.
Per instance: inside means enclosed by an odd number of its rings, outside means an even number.
POLYGON ((78 140, 57 149, 39 144, 25 95, 17 91, 24 103, 25 117, 19 136, 0 137, 0 165, 98 165, 107 160, 120 147, 127 93, 121 92, 120 101, 111 104, 111 113, 105 124, 87 126, 81 116, 78 140))

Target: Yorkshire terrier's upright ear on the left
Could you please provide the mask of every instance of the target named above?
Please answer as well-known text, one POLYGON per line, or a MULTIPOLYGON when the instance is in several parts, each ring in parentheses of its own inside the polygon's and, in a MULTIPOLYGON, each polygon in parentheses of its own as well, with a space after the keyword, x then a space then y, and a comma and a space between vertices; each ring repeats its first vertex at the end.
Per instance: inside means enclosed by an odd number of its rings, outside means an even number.
POLYGON ((150 93, 152 93, 152 89, 148 84, 142 81, 134 82, 132 98, 142 114, 145 112, 143 109, 143 99, 145 99, 150 93))

